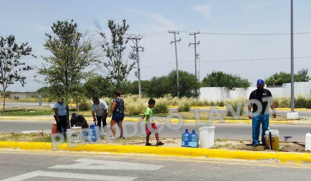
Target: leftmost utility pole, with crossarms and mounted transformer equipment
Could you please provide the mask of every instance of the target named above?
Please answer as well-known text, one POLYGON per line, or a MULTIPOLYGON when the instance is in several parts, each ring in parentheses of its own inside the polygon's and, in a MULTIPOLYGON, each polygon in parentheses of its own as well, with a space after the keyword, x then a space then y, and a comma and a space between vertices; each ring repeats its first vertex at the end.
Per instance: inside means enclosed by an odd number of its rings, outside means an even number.
POLYGON ((138 52, 143 52, 145 50, 145 48, 139 46, 138 47, 138 40, 140 40, 141 38, 128 38, 131 39, 132 41, 135 40, 135 42, 133 41, 133 43, 135 43, 135 47, 132 47, 132 51, 136 52, 135 53, 131 53, 130 55, 130 59, 134 59, 137 60, 137 72, 135 72, 135 76, 138 77, 138 93, 139 93, 139 98, 142 98, 142 85, 141 85, 141 76, 140 76, 140 66, 139 66, 139 53, 138 52))

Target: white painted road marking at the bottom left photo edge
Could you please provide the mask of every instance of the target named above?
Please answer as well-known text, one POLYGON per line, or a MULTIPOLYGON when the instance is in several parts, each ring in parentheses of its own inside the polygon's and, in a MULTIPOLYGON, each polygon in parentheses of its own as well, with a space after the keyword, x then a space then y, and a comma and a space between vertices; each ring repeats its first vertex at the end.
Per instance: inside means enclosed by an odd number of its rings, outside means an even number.
POLYGON ((22 181, 31 179, 38 176, 44 177, 58 177, 67 179, 83 179, 83 180, 113 180, 113 181, 132 181, 138 177, 126 177, 126 176, 111 176, 111 175, 98 175, 98 174, 77 174, 69 172, 49 172, 49 171, 34 171, 27 174, 21 174, 1 181, 22 181))

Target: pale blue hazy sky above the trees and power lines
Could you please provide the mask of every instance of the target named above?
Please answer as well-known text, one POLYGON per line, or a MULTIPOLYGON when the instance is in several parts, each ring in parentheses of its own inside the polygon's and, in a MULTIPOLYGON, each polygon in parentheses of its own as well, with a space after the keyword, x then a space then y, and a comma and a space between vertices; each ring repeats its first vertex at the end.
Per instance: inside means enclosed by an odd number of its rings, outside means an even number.
MULTIPOLYGON (((38 58, 25 57, 22 61, 32 66, 41 66, 45 63, 41 56, 51 55, 51 52, 44 50, 43 44, 44 34, 51 31, 53 22, 74 19, 79 31, 94 32, 93 19, 96 19, 109 33, 108 19, 121 22, 125 18, 130 25, 128 33, 151 34, 143 36, 139 42, 145 48, 140 53, 142 80, 167 75, 175 69, 175 47, 174 44, 170 45, 174 35, 169 34, 168 30, 180 32, 176 34, 177 39, 181 38, 177 43, 179 70, 191 73, 195 72, 194 46, 189 47, 188 44, 194 43, 194 36, 187 32, 200 31, 196 35, 197 41, 200 41, 197 46, 200 80, 213 70, 221 70, 239 74, 254 86, 257 79, 265 79, 279 71, 290 72, 290 59, 277 59, 290 57, 290 35, 220 35, 290 33, 290 0, 0 0, 0 4, 0 36, 13 34, 17 43, 28 42, 38 58)), ((311 1, 294 0, 294 33, 311 32, 310 6, 311 1)), ((311 34, 294 35, 294 57, 311 57, 310 38, 311 34)), ((129 42, 130 45, 134 44, 129 42)), ((310 59, 295 58, 295 73, 303 68, 311 71, 310 59)), ((7 90, 35 91, 43 86, 34 81, 36 74, 36 70, 25 72, 25 87, 16 83, 7 90)), ((128 79, 137 80, 135 70, 132 70, 128 79)))

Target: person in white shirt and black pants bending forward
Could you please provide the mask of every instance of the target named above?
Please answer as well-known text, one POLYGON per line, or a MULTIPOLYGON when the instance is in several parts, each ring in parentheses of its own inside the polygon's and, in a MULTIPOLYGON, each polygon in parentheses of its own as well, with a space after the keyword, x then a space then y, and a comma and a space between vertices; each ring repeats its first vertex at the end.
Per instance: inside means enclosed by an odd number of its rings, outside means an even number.
MULTIPOLYGON (((107 112, 108 112, 108 106, 106 102, 103 99, 99 99, 99 97, 93 97, 91 102, 91 111, 94 118, 94 122, 97 121, 97 126, 99 126, 99 129, 101 127, 101 122, 103 122, 103 128, 106 123, 107 119, 107 112), (96 117, 95 117, 96 113, 96 117), (97 120, 96 120, 97 119, 97 120)), ((106 130, 104 130, 104 136, 107 136, 106 130)))

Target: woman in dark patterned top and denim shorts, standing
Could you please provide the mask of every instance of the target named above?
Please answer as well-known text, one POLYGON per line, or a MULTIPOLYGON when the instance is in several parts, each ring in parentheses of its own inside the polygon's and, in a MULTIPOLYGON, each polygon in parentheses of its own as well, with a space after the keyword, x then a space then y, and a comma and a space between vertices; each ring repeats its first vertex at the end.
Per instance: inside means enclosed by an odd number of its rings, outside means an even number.
POLYGON ((110 109, 109 116, 112 118, 110 121, 110 127, 111 131, 113 133, 113 136, 110 139, 118 139, 116 136, 116 130, 114 128, 114 124, 118 124, 119 130, 120 130, 120 139, 123 139, 123 128, 122 128, 122 122, 124 119, 124 101, 121 98, 121 92, 118 90, 114 91, 114 100, 112 102, 112 106, 110 109))

